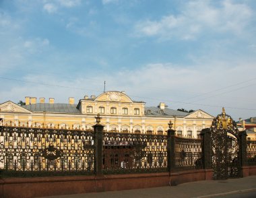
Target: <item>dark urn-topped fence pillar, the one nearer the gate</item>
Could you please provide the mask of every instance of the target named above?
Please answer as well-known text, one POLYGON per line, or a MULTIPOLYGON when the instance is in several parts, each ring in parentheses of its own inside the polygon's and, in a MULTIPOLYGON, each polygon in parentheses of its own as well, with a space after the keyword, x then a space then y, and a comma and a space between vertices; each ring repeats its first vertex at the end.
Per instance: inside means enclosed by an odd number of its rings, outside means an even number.
POLYGON ((172 122, 168 123, 169 129, 167 131, 168 140, 167 140, 167 167, 168 172, 175 168, 175 130, 172 129, 172 122))

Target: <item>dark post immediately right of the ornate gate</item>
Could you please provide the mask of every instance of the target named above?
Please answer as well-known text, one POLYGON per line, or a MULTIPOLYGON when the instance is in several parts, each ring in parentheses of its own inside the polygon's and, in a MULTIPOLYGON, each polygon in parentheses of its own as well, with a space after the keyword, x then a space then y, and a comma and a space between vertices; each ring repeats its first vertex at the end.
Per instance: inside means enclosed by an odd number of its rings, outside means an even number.
POLYGON ((241 131, 239 133, 239 158, 241 160, 241 176, 248 176, 247 174, 247 168, 245 166, 248 166, 247 162, 247 133, 246 131, 241 131))

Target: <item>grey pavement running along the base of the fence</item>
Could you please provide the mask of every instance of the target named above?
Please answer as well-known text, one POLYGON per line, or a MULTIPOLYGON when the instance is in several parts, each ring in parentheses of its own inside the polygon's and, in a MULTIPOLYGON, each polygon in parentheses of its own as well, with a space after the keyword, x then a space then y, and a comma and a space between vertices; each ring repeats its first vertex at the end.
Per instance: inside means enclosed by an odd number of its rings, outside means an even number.
MULTIPOLYGON (((51 196, 47 198, 150 198, 150 197, 256 197, 256 176, 230 178, 228 180, 203 180, 183 183, 171 187, 136 189, 129 191, 109 191, 103 193, 84 193, 76 195, 51 196)), ((45 197, 46 198, 46 197, 45 197)))

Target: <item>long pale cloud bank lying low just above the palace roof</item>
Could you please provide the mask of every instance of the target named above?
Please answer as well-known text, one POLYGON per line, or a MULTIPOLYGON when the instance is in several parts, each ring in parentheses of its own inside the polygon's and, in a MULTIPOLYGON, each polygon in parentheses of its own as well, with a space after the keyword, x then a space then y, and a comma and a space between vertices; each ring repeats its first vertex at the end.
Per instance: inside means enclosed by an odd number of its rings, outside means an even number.
POLYGON ((31 83, 10 81, 0 92, 2 102, 10 98, 18 102, 24 96, 53 97, 56 102, 67 102, 67 98, 75 97, 78 101, 85 94, 90 96, 102 93, 106 80, 106 90, 125 90, 133 100, 147 102, 146 106, 166 102, 172 109, 201 108, 214 116, 224 106, 228 114, 238 119, 253 114, 255 116, 255 110, 246 110, 255 106, 253 98, 256 98, 256 94, 249 92, 256 84, 256 78, 251 72, 254 68, 254 63, 214 62, 193 67, 152 63, 135 70, 120 69, 111 75, 99 71, 92 77, 61 77, 56 73, 27 74, 22 79, 31 83), (193 100, 185 100, 187 98, 193 100))

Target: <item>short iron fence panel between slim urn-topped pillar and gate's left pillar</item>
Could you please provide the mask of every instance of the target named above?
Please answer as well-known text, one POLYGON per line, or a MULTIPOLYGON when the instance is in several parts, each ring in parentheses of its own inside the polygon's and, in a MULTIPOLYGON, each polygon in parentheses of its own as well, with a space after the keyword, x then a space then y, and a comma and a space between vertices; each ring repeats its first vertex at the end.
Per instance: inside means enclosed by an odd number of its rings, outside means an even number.
POLYGON ((201 139, 174 137, 175 169, 202 168, 201 139))

